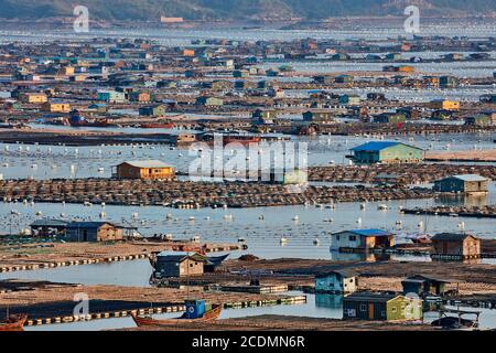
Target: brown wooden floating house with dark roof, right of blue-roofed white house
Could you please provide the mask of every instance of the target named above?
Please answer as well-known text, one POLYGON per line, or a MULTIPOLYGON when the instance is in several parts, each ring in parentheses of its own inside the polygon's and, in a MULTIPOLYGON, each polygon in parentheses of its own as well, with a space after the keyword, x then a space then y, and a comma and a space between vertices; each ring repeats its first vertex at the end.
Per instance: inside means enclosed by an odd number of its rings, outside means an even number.
POLYGON ((432 238, 433 258, 471 259, 481 257, 481 239, 468 233, 439 233, 432 238))

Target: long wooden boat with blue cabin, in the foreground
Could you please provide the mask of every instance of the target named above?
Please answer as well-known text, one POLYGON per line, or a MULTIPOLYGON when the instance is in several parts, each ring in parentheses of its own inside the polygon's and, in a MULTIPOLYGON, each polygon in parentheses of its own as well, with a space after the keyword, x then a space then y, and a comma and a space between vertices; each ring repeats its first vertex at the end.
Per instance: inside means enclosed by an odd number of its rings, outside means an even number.
POLYGON ((143 327, 170 327, 183 323, 211 322, 218 319, 223 304, 208 306, 204 300, 187 300, 186 312, 174 319, 158 320, 152 317, 139 317, 131 313, 132 320, 139 328, 143 327))

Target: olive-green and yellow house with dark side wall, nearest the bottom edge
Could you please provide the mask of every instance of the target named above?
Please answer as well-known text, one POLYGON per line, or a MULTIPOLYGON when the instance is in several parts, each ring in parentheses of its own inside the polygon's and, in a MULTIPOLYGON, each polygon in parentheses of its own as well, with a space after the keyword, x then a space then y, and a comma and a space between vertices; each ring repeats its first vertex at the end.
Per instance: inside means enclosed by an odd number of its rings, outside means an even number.
POLYGON ((355 292, 343 299, 343 319, 379 321, 421 320, 422 300, 398 293, 355 292))

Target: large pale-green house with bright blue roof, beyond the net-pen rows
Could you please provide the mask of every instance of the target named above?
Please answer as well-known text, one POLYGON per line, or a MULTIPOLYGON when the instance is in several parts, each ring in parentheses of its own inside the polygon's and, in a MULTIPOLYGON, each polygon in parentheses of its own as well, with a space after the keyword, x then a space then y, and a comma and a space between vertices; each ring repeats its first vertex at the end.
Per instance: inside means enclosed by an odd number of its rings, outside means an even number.
POLYGON ((370 141, 352 148, 351 158, 358 164, 416 163, 423 160, 421 148, 397 141, 370 141))

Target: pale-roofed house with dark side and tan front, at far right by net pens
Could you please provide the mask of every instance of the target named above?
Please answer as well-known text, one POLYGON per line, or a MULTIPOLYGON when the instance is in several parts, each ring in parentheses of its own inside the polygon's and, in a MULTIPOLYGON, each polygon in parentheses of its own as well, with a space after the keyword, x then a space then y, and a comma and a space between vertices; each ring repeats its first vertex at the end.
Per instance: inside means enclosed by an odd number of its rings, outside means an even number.
POLYGON ((489 191, 489 180, 477 174, 452 175, 434 181, 434 191, 485 194, 489 191))

